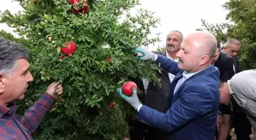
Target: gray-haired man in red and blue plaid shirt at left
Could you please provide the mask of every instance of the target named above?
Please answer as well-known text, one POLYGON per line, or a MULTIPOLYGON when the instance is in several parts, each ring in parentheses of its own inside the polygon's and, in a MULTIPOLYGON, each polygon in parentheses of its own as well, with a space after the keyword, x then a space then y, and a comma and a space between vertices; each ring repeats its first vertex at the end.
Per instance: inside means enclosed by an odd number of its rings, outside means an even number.
POLYGON ((26 110, 24 117, 18 117, 15 101, 24 98, 28 83, 33 81, 28 59, 28 51, 23 45, 0 39, 0 139, 3 140, 32 140, 31 134, 52 106, 55 95, 63 92, 62 85, 53 82, 41 98, 26 110))

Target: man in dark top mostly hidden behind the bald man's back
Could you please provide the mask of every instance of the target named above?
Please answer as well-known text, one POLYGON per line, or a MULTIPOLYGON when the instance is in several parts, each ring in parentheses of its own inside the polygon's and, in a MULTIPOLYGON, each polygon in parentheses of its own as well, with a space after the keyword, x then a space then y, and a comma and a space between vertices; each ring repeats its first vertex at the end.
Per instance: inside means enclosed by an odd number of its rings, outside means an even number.
MULTIPOLYGON (((216 53, 213 57, 213 64, 219 69, 219 80, 221 82, 227 82, 232 76, 235 75, 233 65, 233 58, 221 51, 220 43, 217 44, 216 53)), ((229 135, 230 131, 230 115, 231 108, 226 104, 219 104, 219 115, 217 119, 217 140, 230 140, 232 137, 229 135)))

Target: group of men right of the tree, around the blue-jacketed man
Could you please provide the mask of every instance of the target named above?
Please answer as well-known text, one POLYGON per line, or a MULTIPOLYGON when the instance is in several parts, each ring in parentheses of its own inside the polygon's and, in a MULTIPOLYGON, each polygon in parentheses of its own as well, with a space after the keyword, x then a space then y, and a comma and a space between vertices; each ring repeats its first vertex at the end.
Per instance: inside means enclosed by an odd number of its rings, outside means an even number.
POLYGON ((251 139, 256 70, 239 71, 241 48, 238 39, 221 46, 211 33, 184 38, 178 30, 168 33, 162 52, 136 48, 142 61, 155 61, 163 70, 155 72, 161 86, 142 80, 143 98, 136 90, 131 98, 119 90, 139 112, 138 120, 130 120, 130 140, 230 140, 232 128, 237 140, 251 139))

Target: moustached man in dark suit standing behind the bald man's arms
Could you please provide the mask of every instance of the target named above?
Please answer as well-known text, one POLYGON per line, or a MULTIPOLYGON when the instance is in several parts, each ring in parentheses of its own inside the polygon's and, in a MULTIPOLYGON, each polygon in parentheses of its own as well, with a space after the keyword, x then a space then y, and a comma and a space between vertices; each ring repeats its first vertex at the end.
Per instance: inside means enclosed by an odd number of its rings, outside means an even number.
MULTIPOLYGON (((180 50, 182 40, 183 35, 181 32, 178 30, 171 31, 166 36, 165 51, 153 52, 178 61, 176 54, 180 50)), ((168 93, 170 92, 171 81, 174 79, 174 75, 165 70, 156 71, 155 74, 161 80, 161 86, 157 82, 143 80, 145 82, 144 88, 146 89, 144 104, 160 112, 165 112, 168 93)), ((145 125, 138 120, 133 120, 133 124, 135 125, 130 128, 130 140, 168 140, 167 132, 162 129, 145 125)))

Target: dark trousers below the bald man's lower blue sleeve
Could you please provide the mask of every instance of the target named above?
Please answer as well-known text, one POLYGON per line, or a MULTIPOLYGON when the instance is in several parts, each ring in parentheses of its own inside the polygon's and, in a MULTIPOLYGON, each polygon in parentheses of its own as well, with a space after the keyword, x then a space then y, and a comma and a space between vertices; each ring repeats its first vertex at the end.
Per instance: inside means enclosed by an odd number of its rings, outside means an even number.
POLYGON ((168 132, 148 126, 138 120, 130 121, 130 140, 168 140, 168 132))

